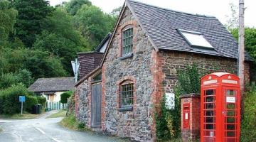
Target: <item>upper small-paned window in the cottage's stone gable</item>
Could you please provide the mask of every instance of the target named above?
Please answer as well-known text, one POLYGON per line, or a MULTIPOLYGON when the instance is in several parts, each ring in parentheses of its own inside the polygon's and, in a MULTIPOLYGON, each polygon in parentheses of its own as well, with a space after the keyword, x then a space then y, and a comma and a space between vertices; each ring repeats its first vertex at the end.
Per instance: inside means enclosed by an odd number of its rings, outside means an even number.
POLYGON ((122 55, 127 55, 132 53, 132 37, 133 37, 133 29, 129 28, 122 33, 122 55))

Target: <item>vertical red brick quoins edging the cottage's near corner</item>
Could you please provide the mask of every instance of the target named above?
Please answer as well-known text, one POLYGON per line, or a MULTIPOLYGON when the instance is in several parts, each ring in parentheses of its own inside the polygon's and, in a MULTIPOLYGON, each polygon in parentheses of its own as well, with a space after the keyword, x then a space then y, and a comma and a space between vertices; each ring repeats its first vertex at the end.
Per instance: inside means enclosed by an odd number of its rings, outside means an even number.
POLYGON ((153 119, 151 126, 152 140, 156 141, 156 121, 154 117, 154 112, 159 111, 155 110, 159 108, 160 100, 164 94, 164 87, 162 86, 162 82, 164 81, 165 75, 162 67, 164 66, 164 58, 162 58, 156 50, 152 50, 151 53, 151 74, 153 75, 152 81, 152 89, 153 93, 151 94, 151 102, 153 102, 154 107, 150 110, 151 119, 153 119))

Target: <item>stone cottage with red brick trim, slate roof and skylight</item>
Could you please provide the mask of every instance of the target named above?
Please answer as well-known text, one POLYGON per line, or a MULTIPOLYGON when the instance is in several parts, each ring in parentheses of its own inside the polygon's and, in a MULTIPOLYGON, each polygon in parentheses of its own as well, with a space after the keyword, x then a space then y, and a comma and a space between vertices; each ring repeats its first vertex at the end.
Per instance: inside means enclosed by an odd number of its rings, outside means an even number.
MULTIPOLYGON (((154 141, 154 105, 174 92, 176 71, 235 72, 238 43, 212 16, 127 0, 100 64, 75 84, 75 115, 87 127, 154 141)), ((245 79, 250 58, 245 54, 245 79)))

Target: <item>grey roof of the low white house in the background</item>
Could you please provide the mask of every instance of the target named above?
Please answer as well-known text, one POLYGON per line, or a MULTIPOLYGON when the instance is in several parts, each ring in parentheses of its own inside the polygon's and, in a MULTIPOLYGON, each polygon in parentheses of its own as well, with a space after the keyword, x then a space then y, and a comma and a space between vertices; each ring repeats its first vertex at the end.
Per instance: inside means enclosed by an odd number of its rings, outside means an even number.
POLYGON ((60 92, 74 89, 74 77, 39 78, 28 87, 33 92, 60 92))

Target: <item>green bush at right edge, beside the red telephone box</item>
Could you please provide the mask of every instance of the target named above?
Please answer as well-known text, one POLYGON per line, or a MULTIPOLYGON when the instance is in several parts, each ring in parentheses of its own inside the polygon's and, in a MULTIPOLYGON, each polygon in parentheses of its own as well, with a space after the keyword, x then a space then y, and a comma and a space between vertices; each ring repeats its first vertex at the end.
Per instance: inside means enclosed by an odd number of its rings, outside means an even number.
POLYGON ((245 112, 241 123, 241 142, 256 141, 256 91, 245 97, 245 112))

